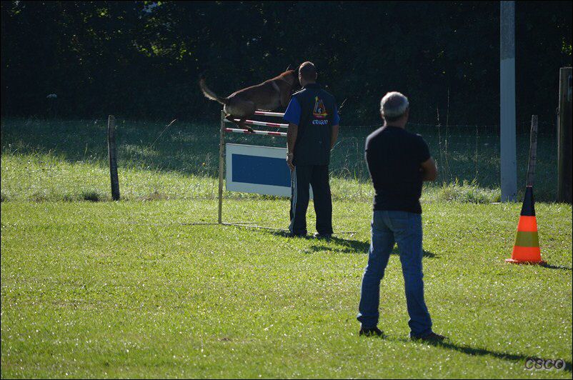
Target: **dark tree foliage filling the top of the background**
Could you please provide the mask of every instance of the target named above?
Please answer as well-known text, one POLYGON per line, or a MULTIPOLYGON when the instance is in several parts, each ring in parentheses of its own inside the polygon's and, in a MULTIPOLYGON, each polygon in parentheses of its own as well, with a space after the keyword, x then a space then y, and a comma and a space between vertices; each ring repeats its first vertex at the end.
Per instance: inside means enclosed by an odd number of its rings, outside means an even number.
MULTIPOLYGON (((555 119, 571 9, 517 2, 520 125, 555 119)), ((376 123, 392 90, 416 121, 499 121, 497 1, 1 3, 3 116, 207 119, 219 104, 199 91, 201 72, 226 95, 306 60, 347 99, 343 125, 376 123)))

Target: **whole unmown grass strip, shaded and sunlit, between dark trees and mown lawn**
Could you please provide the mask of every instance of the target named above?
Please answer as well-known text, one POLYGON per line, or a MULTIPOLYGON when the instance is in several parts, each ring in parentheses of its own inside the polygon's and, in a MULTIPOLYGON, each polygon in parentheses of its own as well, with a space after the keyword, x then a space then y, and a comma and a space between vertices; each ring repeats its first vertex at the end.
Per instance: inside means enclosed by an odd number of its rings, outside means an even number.
MULTIPOLYGON (((218 121, 176 122, 164 134, 160 122, 117 123, 120 191, 123 199, 213 199, 217 194, 218 121), (157 139, 158 136, 161 137, 157 139)), ((455 198, 499 201, 499 138, 492 129, 412 126, 438 161, 439 179, 424 191, 426 201, 455 198), (439 133, 438 133, 439 132, 439 133), (445 186, 444 186, 445 185, 445 186), (450 187, 454 185, 455 188, 450 187), (461 187, 460 187, 461 186, 461 187)), ((372 198, 364 164, 364 139, 374 128, 342 128, 332 151, 334 199, 372 198)), ((540 134, 535 195, 554 201, 557 189, 555 136, 540 134)), ((1 196, 4 201, 84 199, 84 192, 108 200, 106 121, 2 119, 1 196)), ((284 146, 284 139, 230 134, 229 142, 284 146)), ((524 184, 529 136, 517 136, 518 183, 524 184)), ((520 186, 519 186, 520 187, 520 186)), ((520 195, 521 190, 520 191, 520 195)), ((229 193, 234 198, 259 198, 229 193)))

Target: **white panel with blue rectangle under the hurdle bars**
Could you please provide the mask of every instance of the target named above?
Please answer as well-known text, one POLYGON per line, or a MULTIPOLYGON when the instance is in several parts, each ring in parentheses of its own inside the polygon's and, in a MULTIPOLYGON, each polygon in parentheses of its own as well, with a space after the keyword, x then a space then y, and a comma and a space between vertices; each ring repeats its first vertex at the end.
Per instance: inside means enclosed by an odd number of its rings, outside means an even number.
POLYGON ((226 189, 243 193, 291 196, 287 149, 225 144, 226 189))

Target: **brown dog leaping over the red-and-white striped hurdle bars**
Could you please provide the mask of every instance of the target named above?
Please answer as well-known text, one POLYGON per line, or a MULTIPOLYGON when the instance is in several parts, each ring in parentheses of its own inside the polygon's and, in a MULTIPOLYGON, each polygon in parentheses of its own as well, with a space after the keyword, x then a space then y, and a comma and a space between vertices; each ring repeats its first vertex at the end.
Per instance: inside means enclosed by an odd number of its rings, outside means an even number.
POLYGON ((206 86, 204 75, 199 77, 199 87, 207 99, 223 104, 225 119, 237 124, 242 129, 253 132, 253 129, 245 124, 246 118, 253 116, 257 109, 272 111, 279 106, 286 107, 297 81, 297 71, 290 69, 289 66, 286 71, 273 79, 236 91, 226 98, 217 96, 206 86), (234 119, 239 119, 239 121, 234 119))

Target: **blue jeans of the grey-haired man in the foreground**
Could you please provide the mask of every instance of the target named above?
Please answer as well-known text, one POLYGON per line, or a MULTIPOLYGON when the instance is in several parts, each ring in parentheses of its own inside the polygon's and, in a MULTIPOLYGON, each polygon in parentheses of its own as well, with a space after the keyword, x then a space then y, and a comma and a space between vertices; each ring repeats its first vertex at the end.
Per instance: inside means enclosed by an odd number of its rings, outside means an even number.
POLYGON ((388 259, 398 243, 402 274, 406 288, 406 303, 410 320, 410 336, 419 337, 432 332, 424 301, 422 281, 422 215, 405 211, 374 211, 372 217, 372 243, 368 265, 362 277, 362 293, 358 320, 363 329, 377 326, 380 304, 380 281, 388 259))

